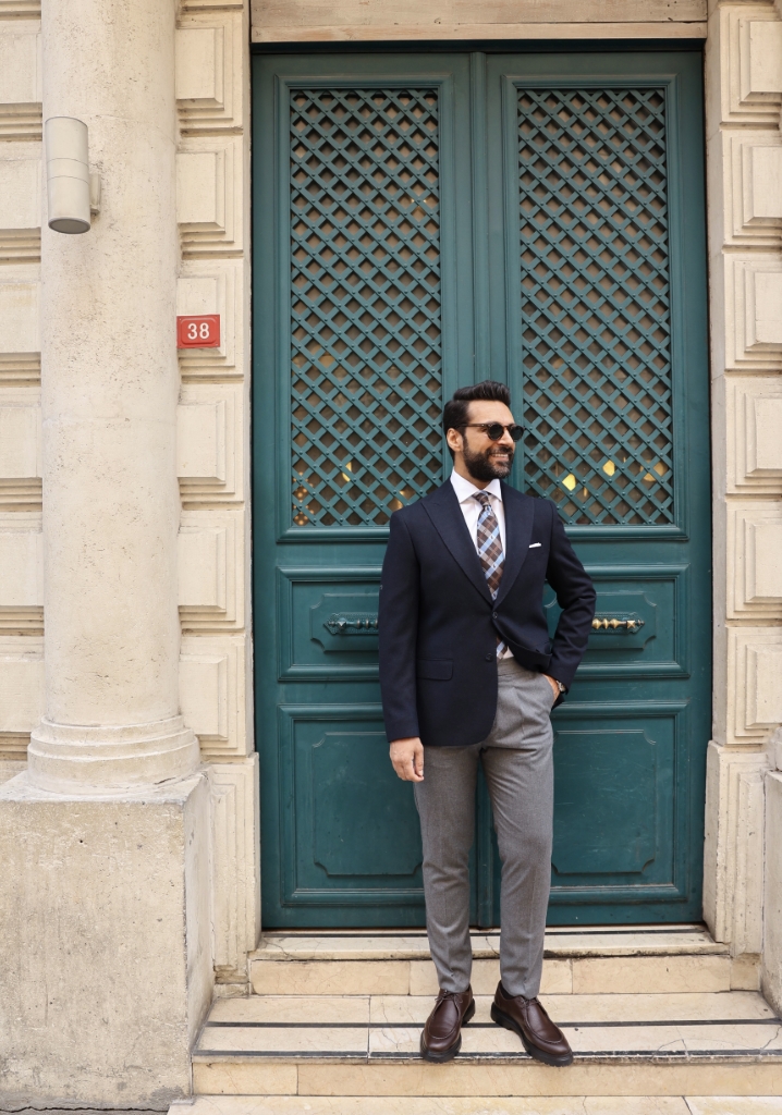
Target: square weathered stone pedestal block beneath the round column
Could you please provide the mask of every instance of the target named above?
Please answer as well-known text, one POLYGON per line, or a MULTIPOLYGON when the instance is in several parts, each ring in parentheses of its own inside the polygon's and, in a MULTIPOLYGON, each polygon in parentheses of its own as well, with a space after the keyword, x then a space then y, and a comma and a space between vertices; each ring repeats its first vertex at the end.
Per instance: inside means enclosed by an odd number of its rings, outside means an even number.
POLYGON ((0 1109, 163 1109, 212 995, 205 773, 112 797, 0 786, 0 1109))

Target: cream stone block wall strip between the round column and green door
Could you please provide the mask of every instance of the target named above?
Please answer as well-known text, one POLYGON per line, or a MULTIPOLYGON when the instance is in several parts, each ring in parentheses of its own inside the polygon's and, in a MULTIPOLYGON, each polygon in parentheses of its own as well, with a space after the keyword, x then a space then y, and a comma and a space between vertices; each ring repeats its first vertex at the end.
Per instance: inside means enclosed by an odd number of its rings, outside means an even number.
POLYGON ((250 640, 249 37, 242 0, 182 3, 176 312, 220 313, 222 332, 219 349, 180 352, 180 691, 212 770, 214 963, 226 993, 245 981, 247 952, 260 931, 250 640))

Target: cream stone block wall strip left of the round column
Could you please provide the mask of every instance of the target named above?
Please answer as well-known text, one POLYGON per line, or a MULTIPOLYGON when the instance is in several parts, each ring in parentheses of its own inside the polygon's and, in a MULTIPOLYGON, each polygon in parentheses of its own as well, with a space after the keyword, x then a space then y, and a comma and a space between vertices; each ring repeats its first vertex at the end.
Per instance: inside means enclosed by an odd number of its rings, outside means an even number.
POLYGON ((42 712, 41 48, 37 4, 0 7, 0 755, 42 712))

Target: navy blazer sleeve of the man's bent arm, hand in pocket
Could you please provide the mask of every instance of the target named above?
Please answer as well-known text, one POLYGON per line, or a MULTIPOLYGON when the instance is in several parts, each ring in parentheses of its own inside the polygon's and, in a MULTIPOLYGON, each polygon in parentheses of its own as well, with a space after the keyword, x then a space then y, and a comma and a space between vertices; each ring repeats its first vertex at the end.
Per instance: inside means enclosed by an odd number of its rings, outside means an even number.
POLYGON ((562 614, 554 632, 549 673, 569 689, 592 629, 597 594, 576 555, 556 505, 551 504, 551 547, 546 580, 557 593, 562 614))

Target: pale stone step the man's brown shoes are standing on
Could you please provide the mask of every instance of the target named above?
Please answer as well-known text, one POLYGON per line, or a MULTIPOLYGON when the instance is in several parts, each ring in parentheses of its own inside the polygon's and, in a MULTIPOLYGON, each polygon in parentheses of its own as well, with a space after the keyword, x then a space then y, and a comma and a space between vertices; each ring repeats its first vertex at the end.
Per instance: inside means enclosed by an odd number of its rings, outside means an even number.
POLYGON ((541 998, 573 1047, 568 1068, 529 1057, 515 1035, 491 1021, 489 996, 477 997, 462 1053, 448 1065, 418 1056, 429 996, 219 999, 193 1054, 194 1090, 267 1097, 782 1093, 782 1022, 757 992, 541 998))

